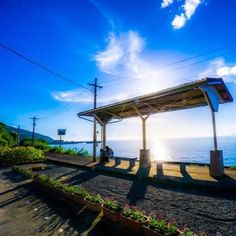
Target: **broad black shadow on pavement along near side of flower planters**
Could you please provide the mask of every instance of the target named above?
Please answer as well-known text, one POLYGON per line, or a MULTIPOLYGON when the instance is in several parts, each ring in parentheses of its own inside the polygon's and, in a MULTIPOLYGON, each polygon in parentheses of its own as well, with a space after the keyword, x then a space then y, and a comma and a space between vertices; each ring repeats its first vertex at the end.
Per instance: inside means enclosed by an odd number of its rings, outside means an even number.
POLYGON ((34 197, 28 199, 31 201, 28 208, 38 209, 33 220, 50 216, 48 221, 40 225, 39 232, 41 233, 51 235, 55 233, 58 228, 63 228, 64 235, 74 235, 75 232, 79 232, 79 235, 83 235, 83 232, 87 232, 87 230, 92 227, 92 230, 86 235, 137 235, 122 228, 119 224, 114 224, 104 218, 99 220, 95 227, 93 227, 93 224, 98 217, 98 213, 91 212, 84 206, 74 205, 63 197, 58 198, 58 196, 51 191, 42 191, 35 186, 34 189, 31 189, 30 191, 33 191, 35 196, 37 198, 39 197, 43 200, 44 204, 46 204, 46 206, 42 206, 42 203, 34 197), (48 192, 49 194, 45 194, 45 192, 48 192), (56 201, 52 201, 52 199, 55 199, 56 197, 56 201), (67 222, 66 226, 64 224, 65 222, 67 222))

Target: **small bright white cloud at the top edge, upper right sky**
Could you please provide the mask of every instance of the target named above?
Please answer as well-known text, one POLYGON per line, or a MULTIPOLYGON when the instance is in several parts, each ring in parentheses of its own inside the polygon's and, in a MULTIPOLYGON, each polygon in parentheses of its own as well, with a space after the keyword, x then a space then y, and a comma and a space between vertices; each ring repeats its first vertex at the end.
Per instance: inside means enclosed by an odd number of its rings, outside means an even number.
POLYGON ((202 0, 185 0, 184 5, 182 6, 183 12, 179 15, 175 15, 174 20, 171 23, 173 28, 182 28, 186 24, 187 20, 191 19, 197 7, 201 4, 201 1, 202 0))

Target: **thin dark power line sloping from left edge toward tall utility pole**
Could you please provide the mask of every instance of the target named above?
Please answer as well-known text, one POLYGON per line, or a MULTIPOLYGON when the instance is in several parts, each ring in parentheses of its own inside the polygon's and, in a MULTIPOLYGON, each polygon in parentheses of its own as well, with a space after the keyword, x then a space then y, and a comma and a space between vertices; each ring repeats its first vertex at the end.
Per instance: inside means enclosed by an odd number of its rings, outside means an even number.
POLYGON ((85 86, 80 85, 80 84, 78 84, 77 82, 75 82, 75 81, 73 81, 73 80, 71 80, 71 79, 69 79, 69 78, 67 78, 67 77, 65 77, 65 76, 63 76, 63 75, 60 75, 60 74, 58 74, 58 73, 52 71, 51 69, 48 69, 46 66, 43 66, 43 65, 41 65, 40 63, 36 62, 35 60, 33 60, 33 59, 29 58, 29 57, 24 56, 23 54, 19 53, 19 52, 16 51, 15 49, 10 48, 10 47, 6 46, 6 45, 3 44, 3 43, 0 43, 0 47, 2 47, 2 48, 4 48, 4 49, 8 50, 9 52, 11 52, 11 53, 17 55, 18 57, 21 57, 22 59, 26 60, 27 62, 29 62, 29 63, 31 63, 31 64, 33 64, 33 65, 35 65, 35 66, 37 66, 38 68, 40 68, 40 69, 42 69, 42 70, 44 70, 44 71, 47 71, 48 73, 50 73, 50 74, 56 76, 57 78, 63 79, 63 80, 65 80, 65 81, 67 81, 67 82, 69 82, 69 83, 71 83, 71 84, 74 84, 74 85, 76 85, 76 86, 79 86, 79 87, 81 87, 81 88, 88 89, 88 88, 86 88, 85 86))

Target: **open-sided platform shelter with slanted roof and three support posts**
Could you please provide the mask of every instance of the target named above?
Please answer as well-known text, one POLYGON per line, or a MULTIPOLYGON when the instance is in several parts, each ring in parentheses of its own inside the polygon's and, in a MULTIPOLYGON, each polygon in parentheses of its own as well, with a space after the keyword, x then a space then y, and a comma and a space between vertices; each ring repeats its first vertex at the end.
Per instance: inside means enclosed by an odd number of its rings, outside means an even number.
POLYGON ((102 143, 106 146, 106 125, 115 120, 140 117, 142 120, 143 148, 140 150, 140 167, 150 167, 150 154, 146 144, 146 121, 155 113, 178 111, 201 106, 209 106, 212 114, 214 150, 211 151, 210 173, 223 174, 222 151, 217 147, 215 112, 219 104, 232 102, 233 98, 221 78, 205 78, 173 88, 134 97, 96 109, 78 113, 78 117, 92 121, 95 118, 102 127, 102 143))

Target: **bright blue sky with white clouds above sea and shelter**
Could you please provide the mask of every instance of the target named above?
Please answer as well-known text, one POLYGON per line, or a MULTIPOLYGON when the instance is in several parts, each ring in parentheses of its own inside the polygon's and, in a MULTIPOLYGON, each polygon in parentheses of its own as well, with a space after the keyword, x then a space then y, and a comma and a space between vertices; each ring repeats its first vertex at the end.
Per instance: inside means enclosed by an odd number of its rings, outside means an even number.
MULTIPOLYGON (((195 81, 221 77, 236 95, 234 0, 0 0, 0 121, 58 139, 92 140, 77 113, 195 81), (68 81, 70 80, 70 81, 68 81), (72 82, 71 82, 72 81, 72 82)), ((216 114, 217 133, 236 135, 235 102, 216 114)), ((99 129, 100 130, 100 129, 99 129)), ((141 120, 107 127, 108 139, 141 138, 141 120)), ((212 135, 208 107, 151 116, 150 139, 212 135)))

